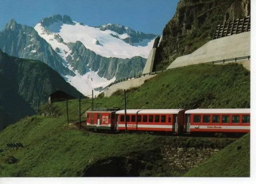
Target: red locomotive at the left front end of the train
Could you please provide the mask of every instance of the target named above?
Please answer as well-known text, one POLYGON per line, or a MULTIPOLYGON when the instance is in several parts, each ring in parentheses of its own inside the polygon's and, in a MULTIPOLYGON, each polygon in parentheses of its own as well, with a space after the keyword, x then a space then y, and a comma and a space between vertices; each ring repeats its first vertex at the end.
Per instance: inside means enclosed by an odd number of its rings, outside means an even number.
POLYGON ((88 129, 116 130, 115 112, 117 108, 97 108, 87 112, 88 129))

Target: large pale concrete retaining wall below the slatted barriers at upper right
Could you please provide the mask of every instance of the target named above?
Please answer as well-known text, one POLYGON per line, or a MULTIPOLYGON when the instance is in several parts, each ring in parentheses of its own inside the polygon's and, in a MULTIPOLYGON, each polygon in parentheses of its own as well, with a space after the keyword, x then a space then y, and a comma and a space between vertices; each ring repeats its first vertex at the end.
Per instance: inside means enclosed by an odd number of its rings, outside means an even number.
POLYGON ((211 40, 192 54, 178 57, 167 69, 222 59, 250 56, 250 36, 251 32, 246 32, 211 40))

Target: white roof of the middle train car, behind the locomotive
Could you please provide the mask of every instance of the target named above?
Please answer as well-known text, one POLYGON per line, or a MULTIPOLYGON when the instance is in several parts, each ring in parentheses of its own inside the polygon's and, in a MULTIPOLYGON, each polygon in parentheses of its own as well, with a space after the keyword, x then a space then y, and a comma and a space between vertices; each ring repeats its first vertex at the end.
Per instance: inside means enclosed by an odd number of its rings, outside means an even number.
MULTIPOLYGON (((178 114, 183 109, 127 109, 127 114, 178 114)), ((117 111, 116 114, 125 114, 125 110, 117 111)))

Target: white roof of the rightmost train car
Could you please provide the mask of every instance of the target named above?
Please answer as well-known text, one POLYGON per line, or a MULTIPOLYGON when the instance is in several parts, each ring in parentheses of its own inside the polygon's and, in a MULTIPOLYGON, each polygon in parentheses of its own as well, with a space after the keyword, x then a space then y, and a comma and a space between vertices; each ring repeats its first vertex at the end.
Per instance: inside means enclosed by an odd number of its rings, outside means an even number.
POLYGON ((228 114, 228 113, 250 113, 250 108, 197 108, 185 111, 185 114, 228 114))

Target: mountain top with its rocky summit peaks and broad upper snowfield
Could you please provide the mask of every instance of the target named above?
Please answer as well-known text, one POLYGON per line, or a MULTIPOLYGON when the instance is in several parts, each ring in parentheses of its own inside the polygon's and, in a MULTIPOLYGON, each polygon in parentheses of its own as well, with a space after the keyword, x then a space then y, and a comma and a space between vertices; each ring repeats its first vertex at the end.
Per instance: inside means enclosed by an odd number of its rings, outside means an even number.
POLYGON ((72 21, 67 15, 54 15, 44 18, 34 26, 37 33, 51 46, 59 49, 63 57, 70 54, 66 43, 80 41, 94 53, 104 57, 130 59, 134 56, 148 57, 154 44, 155 35, 144 34, 119 24, 107 24, 93 27, 72 21), (136 39, 126 43, 127 38, 136 39), (148 43, 145 46, 145 43, 148 43), (143 46, 141 46, 143 45, 143 46))

